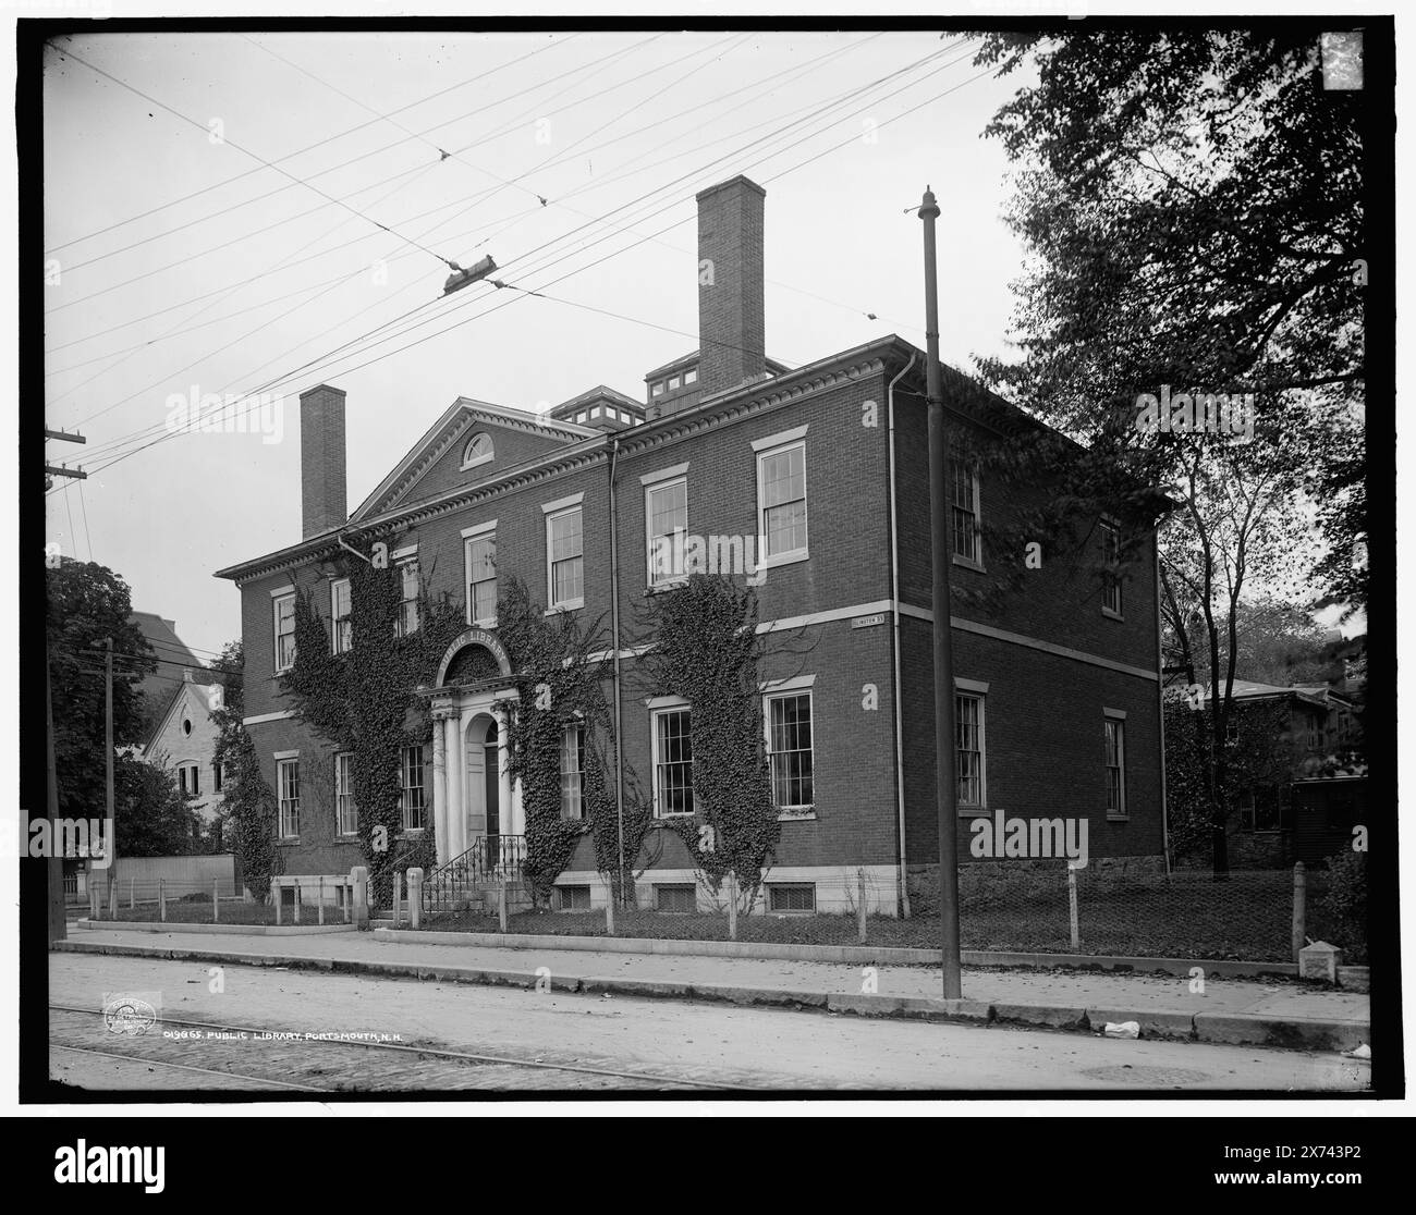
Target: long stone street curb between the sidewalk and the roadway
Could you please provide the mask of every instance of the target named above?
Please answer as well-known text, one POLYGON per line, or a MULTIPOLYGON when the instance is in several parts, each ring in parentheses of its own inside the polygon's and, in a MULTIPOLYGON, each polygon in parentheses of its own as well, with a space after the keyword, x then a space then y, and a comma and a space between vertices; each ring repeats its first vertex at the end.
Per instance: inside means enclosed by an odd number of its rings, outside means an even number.
POLYGON ((178 946, 110 945, 106 942, 59 940, 55 953, 96 953, 119 957, 157 957, 173 962, 224 962, 241 966, 327 970, 336 974, 374 974, 388 979, 416 979, 435 983, 473 983, 489 987, 535 988, 547 983, 552 991, 709 1000, 741 1005, 816 1008, 858 1017, 892 1017, 916 1021, 947 1021, 970 1025, 1034 1025, 1073 1032, 1100 1032, 1107 1021, 1137 1021, 1143 1038, 1255 1045, 1298 1051, 1352 1049, 1371 1041, 1371 1028, 1359 1021, 1324 1021, 1249 1012, 1184 1012, 1153 1010, 1129 1012, 1114 1008, 1076 1008, 1052 1004, 990 1003, 833 991, 797 991, 776 987, 739 987, 719 983, 678 983, 599 976, 555 976, 527 970, 486 970, 474 966, 429 966, 416 962, 362 962, 309 957, 304 954, 234 953, 178 946))

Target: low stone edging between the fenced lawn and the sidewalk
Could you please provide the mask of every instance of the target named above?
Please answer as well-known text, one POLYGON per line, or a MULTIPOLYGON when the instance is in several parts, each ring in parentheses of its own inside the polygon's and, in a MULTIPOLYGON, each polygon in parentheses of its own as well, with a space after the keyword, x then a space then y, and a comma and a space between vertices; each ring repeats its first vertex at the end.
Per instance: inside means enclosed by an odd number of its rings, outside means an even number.
MULTIPOLYGON (((559 936, 514 932, 429 932, 426 929, 375 928, 374 939, 406 945, 474 945, 490 949, 585 950, 589 953, 656 953, 698 957, 752 957, 769 962, 834 962, 854 966, 937 966, 939 950, 892 945, 784 945, 758 940, 680 940, 650 936, 559 936)), ((1126 957, 1086 953, 1020 953, 1012 950, 966 949, 964 966, 1000 966, 1039 970, 1106 970, 1137 974, 1189 977, 1202 967, 1209 977, 1250 979, 1256 976, 1298 977, 1294 962, 1233 962, 1197 957, 1126 957)), ((1342 967, 1352 974, 1352 987, 1365 979, 1364 967, 1342 967)), ((1344 987, 1348 983, 1344 981, 1344 987)))

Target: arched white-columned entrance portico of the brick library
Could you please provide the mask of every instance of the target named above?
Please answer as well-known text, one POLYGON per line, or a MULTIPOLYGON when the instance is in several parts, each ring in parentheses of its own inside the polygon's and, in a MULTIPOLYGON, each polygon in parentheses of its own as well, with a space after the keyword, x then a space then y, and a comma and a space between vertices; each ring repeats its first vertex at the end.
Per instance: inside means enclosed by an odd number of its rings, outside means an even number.
POLYGON ((433 718, 433 833, 438 864, 486 840, 525 834, 520 782, 507 739, 518 700, 511 664, 496 634, 469 629, 449 647, 429 692, 433 718))

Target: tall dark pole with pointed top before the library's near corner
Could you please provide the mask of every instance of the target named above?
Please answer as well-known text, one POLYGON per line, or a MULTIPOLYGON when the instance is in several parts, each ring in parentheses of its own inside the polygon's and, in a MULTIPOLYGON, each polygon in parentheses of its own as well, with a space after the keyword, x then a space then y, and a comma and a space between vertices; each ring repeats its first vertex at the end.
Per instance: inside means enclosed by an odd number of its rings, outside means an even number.
POLYGON ((944 998, 963 996, 959 962, 959 796, 954 773, 954 654, 950 627, 949 566, 953 561, 949 511, 949 453, 944 443, 944 397, 939 371, 939 279, 935 268, 935 219, 939 205, 926 186, 919 208, 925 221, 925 354, 929 398, 929 515, 935 565, 935 796, 939 809, 939 929, 944 998))

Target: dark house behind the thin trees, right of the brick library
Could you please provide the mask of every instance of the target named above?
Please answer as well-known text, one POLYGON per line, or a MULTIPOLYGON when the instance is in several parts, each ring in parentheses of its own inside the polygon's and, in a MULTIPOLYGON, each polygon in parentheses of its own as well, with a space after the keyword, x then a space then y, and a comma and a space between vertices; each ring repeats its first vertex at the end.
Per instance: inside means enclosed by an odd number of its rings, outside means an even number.
POLYGON ((1351 840, 1366 804, 1358 701, 1325 685, 1235 680, 1229 741, 1233 865, 1313 864, 1351 840))

